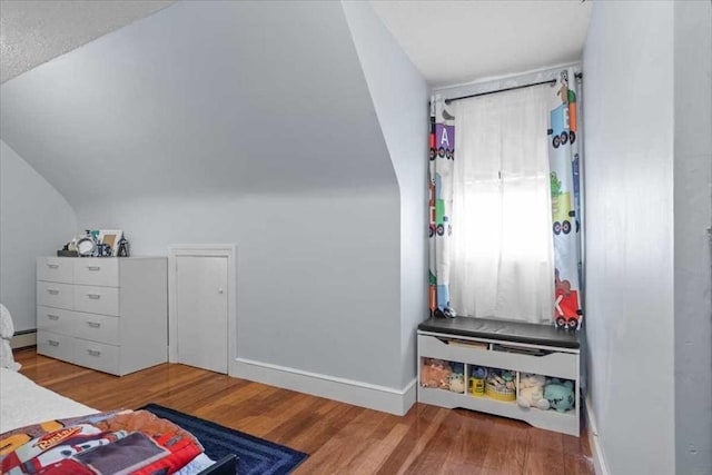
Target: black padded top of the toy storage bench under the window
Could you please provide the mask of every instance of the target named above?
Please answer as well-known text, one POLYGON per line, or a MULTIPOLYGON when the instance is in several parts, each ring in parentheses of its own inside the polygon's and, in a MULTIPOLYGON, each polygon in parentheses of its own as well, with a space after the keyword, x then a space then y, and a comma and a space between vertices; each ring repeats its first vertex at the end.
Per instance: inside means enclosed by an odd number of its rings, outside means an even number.
POLYGON ((418 330, 558 348, 580 348, 578 331, 556 328, 553 324, 538 325, 474 317, 432 317, 418 325, 418 330))

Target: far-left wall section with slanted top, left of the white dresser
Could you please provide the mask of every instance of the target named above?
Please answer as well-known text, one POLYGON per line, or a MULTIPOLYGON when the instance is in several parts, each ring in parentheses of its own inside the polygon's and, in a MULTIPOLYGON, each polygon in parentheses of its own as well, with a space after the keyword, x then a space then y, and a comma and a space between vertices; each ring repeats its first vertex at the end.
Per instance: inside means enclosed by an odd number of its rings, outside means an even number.
POLYGON ((0 140, 0 301, 16 331, 37 328, 37 256, 52 256, 77 234, 67 200, 0 140))

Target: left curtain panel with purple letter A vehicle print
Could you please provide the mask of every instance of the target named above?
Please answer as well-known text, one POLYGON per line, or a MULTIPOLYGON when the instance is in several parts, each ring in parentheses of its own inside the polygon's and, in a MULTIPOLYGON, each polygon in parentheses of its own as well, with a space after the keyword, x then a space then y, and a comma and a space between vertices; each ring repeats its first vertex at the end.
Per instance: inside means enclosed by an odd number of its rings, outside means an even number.
POLYGON ((431 316, 454 317, 449 306, 449 241, 452 236, 455 117, 445 101, 431 100, 429 152, 429 307, 431 316))

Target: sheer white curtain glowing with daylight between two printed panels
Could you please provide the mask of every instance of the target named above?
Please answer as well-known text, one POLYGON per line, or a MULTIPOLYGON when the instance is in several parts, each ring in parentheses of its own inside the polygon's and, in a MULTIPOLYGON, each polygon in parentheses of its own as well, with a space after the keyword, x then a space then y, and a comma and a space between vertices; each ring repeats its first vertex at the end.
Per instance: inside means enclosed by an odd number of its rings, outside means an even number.
POLYGON ((455 102, 451 303, 458 315, 552 320, 548 88, 455 102))

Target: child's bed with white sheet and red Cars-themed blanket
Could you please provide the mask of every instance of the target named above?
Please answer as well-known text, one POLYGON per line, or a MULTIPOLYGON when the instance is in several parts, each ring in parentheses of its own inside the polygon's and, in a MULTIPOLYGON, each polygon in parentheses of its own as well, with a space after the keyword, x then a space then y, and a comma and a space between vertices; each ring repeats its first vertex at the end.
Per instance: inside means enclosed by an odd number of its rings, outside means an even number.
POLYGON ((146 410, 98 412, 0 367, 2 473, 236 473, 236 457, 211 461, 199 441, 146 410))

